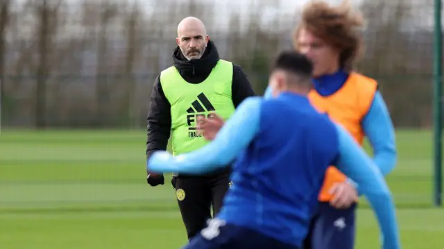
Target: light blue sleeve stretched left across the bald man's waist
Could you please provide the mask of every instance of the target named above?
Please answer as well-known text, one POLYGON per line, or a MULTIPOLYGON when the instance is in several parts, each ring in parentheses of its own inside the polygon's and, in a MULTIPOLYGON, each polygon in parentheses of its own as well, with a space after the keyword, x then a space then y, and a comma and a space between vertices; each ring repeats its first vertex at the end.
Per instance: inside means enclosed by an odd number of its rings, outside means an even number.
POLYGON ((227 166, 257 136, 261 103, 262 97, 246 98, 210 144, 176 157, 157 151, 148 160, 147 169, 153 173, 201 174, 227 166))

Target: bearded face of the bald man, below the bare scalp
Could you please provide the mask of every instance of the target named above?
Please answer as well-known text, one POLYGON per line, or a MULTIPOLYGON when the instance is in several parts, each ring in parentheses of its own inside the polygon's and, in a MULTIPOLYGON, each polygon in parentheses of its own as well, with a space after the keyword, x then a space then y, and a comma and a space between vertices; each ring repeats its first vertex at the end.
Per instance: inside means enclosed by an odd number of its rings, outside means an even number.
POLYGON ((176 42, 187 60, 200 59, 210 37, 198 26, 187 26, 178 33, 176 42))

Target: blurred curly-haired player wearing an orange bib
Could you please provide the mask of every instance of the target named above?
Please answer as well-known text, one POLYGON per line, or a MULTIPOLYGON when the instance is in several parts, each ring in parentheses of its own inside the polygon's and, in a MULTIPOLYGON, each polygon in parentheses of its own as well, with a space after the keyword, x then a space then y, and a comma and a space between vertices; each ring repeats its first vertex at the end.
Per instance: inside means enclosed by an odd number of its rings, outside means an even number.
MULTIPOLYGON (((314 63, 309 100, 341 124, 359 144, 368 138, 373 160, 384 175, 396 163, 395 131, 377 81, 355 71, 362 51, 357 30, 364 23, 348 1, 308 3, 293 35, 293 46, 314 63)), ((305 248, 352 249, 359 186, 334 166, 325 174, 305 248)))

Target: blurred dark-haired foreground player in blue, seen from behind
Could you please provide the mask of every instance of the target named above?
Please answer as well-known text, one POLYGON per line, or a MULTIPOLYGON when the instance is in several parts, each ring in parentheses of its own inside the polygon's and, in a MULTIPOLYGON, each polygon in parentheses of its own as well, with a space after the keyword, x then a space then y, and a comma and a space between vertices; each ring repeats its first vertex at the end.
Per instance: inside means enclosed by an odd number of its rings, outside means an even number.
POLYGON ((391 193, 348 132, 309 103, 313 65, 297 52, 275 60, 273 98, 247 98, 214 140, 192 153, 152 155, 153 172, 207 173, 233 160, 233 187, 216 218, 185 249, 297 249, 307 235, 325 170, 336 165, 375 210, 384 249, 399 249, 391 193))

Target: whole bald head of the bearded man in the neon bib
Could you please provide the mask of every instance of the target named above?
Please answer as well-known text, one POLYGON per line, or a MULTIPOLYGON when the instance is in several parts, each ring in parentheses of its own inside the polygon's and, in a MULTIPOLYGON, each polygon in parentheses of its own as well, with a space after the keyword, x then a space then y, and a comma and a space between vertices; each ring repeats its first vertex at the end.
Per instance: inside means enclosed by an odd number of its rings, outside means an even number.
POLYGON ((178 25, 176 42, 187 60, 202 57, 210 37, 205 25, 196 17, 185 17, 178 25))

